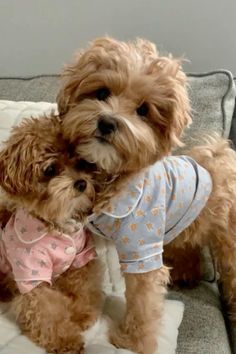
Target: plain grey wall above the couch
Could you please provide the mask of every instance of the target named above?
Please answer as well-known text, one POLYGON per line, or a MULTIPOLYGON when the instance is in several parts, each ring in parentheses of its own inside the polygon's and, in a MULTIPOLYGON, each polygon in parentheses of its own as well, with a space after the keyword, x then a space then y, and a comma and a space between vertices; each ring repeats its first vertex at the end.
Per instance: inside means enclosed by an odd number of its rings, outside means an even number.
POLYGON ((236 0, 0 0, 0 76, 59 72, 103 34, 147 37, 187 71, 236 74, 236 0))

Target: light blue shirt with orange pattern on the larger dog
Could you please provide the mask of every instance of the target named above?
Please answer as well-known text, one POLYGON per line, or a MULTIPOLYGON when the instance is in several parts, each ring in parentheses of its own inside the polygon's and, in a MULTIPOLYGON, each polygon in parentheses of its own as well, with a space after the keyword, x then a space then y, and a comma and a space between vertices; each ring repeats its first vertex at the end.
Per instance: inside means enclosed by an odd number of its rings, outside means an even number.
POLYGON ((209 173, 187 156, 170 156, 138 174, 99 215, 94 233, 113 239, 121 269, 144 273, 163 265, 163 245, 200 214, 212 190, 209 173))

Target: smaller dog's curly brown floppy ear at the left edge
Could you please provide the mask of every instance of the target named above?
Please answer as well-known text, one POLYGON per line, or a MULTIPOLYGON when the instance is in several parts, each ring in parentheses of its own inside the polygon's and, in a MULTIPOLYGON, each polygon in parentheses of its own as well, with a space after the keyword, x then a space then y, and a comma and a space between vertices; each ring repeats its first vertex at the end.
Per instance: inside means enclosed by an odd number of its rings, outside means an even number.
POLYGON ((23 194, 30 191, 33 171, 30 156, 30 141, 13 134, 0 151, 0 185, 9 194, 23 194))

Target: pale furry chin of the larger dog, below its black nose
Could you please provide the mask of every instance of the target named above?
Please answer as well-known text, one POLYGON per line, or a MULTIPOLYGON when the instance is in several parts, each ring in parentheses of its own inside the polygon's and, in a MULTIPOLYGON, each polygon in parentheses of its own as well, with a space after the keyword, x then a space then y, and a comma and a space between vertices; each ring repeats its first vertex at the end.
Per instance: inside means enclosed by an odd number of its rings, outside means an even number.
POLYGON ((122 166, 122 159, 114 146, 100 138, 78 145, 76 152, 85 160, 95 163, 98 168, 109 174, 118 172, 122 166))

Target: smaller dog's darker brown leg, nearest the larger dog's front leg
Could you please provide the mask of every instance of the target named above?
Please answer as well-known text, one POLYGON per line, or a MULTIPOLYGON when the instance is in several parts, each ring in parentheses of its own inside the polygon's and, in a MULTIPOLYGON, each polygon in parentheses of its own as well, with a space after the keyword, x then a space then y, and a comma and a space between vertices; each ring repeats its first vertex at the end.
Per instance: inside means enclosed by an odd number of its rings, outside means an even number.
POLYGON ((82 268, 70 268, 56 281, 56 286, 70 295, 71 319, 81 331, 91 327, 101 313, 102 276, 100 261, 92 260, 82 268))

